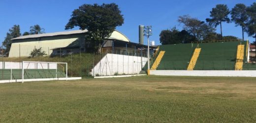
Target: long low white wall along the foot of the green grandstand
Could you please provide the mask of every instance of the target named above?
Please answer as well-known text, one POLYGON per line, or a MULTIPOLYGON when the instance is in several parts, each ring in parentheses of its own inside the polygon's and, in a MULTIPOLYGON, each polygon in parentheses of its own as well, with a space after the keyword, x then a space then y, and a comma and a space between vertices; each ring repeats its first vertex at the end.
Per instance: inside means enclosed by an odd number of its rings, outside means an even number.
POLYGON ((150 70, 150 75, 256 77, 256 70, 150 70))

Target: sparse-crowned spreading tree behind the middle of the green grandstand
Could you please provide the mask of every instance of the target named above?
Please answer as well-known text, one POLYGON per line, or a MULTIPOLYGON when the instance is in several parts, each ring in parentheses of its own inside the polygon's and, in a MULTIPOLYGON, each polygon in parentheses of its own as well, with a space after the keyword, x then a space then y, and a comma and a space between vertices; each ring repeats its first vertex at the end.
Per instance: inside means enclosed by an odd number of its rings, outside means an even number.
POLYGON ((184 30, 191 33, 197 40, 201 40, 204 35, 215 30, 210 25, 189 15, 179 16, 178 22, 184 24, 184 30))

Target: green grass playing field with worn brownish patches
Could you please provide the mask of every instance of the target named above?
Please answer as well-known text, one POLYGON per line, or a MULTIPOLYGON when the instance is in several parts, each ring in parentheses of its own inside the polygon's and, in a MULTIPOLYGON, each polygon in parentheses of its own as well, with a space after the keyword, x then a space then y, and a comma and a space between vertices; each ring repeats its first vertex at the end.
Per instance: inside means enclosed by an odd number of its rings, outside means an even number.
POLYGON ((0 122, 255 122, 256 78, 82 79, 0 84, 0 122))

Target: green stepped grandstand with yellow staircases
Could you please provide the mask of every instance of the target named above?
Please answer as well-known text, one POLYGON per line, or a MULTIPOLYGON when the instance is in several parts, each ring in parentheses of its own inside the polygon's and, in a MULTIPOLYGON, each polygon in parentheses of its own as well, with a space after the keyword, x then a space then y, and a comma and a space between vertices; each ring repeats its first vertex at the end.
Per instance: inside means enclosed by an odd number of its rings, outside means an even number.
POLYGON ((236 70, 255 70, 256 64, 246 61, 246 50, 246 41, 161 45, 159 51, 165 51, 165 53, 160 63, 157 63, 156 69, 235 70, 239 67, 236 70))

